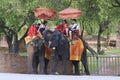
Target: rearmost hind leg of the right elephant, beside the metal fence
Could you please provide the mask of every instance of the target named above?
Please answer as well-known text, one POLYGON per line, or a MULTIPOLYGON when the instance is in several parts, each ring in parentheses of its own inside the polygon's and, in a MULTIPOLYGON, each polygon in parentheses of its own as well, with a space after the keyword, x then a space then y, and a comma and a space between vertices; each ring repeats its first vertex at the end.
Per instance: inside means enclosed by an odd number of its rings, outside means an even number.
POLYGON ((87 62, 86 51, 82 55, 81 62, 83 64, 84 68, 85 68, 86 75, 90 75, 90 72, 89 72, 89 69, 88 69, 88 62, 87 62))

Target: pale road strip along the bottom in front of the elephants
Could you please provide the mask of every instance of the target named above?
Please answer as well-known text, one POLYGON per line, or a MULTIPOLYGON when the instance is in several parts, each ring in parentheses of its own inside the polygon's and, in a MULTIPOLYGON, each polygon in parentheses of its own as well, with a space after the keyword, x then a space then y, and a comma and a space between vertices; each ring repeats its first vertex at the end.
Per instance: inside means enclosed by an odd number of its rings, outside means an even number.
POLYGON ((120 80, 120 77, 0 73, 0 80, 120 80))

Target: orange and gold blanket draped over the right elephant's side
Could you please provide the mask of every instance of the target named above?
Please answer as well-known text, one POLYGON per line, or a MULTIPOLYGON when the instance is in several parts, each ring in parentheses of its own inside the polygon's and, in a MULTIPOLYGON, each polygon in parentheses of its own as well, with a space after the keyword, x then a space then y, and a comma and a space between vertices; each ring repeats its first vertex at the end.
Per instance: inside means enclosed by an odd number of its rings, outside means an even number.
POLYGON ((84 50, 84 45, 81 39, 76 39, 70 42, 70 60, 79 61, 84 50))

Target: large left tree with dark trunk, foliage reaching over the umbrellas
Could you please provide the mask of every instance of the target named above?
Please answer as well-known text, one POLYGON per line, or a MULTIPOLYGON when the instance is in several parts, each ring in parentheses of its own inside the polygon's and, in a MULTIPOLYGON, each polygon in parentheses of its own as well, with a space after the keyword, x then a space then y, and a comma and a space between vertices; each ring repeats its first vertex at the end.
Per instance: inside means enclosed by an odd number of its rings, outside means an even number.
POLYGON ((20 40, 18 40, 18 32, 24 25, 30 26, 35 21, 33 14, 35 8, 46 7, 58 11, 65 8, 65 6, 68 7, 70 1, 0 0, 0 3, 2 3, 0 5, 0 30, 6 35, 9 53, 18 53, 19 43, 26 36, 27 30, 20 40))

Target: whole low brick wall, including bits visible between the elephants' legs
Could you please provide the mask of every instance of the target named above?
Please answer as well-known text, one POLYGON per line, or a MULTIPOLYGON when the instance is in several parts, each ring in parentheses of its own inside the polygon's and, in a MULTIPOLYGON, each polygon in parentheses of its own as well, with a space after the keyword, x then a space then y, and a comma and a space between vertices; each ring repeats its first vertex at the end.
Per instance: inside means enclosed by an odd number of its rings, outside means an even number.
MULTIPOLYGON (((61 61, 58 64, 58 72, 61 73, 61 61)), ((50 73, 52 60, 48 65, 48 71, 50 73)), ((27 66, 27 57, 26 56, 19 56, 14 54, 2 54, 0 53, 0 72, 5 73, 28 73, 28 66, 27 66)), ((72 64, 68 62, 67 64, 67 72, 68 74, 72 74, 72 64)))

